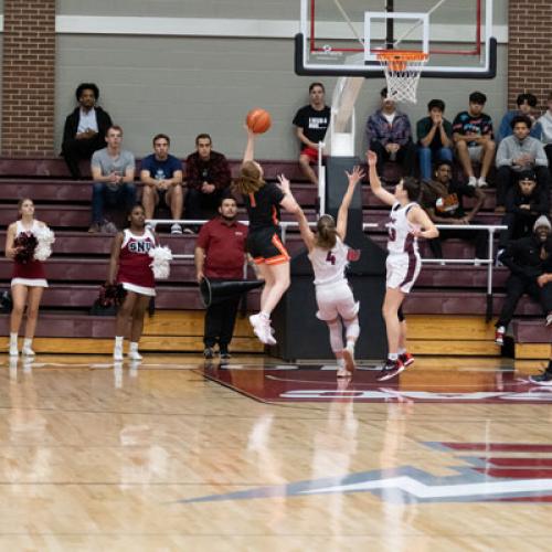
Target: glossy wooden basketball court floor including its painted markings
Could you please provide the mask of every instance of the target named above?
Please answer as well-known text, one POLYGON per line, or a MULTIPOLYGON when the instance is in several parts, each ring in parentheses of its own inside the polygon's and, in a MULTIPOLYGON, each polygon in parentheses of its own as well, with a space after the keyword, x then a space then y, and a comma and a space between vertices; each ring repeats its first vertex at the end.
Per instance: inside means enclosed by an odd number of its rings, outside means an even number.
POLYGON ((551 550, 544 362, 0 359, 1 550, 551 550))

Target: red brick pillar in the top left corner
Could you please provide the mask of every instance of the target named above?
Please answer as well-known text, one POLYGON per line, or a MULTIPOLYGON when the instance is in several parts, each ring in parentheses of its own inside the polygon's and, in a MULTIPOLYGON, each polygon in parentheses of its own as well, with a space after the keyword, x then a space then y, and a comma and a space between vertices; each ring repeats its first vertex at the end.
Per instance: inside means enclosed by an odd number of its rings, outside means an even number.
POLYGON ((2 156, 53 155, 55 0, 4 0, 2 156))

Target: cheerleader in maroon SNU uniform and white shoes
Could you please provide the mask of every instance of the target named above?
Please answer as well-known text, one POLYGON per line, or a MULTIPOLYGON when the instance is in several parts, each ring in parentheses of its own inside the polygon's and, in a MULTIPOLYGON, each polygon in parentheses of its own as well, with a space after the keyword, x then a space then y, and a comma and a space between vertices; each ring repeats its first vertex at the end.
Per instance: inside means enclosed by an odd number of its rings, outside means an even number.
POLYGON ((128 358, 141 360, 138 341, 144 328, 144 315, 151 297, 155 297, 153 272, 149 266, 149 251, 156 246, 153 233, 146 227, 146 213, 135 205, 128 215, 129 227, 119 232, 113 242, 108 284, 123 284, 127 295, 117 312, 115 322, 115 349, 113 358, 123 360, 123 338, 130 323, 130 348, 128 358))

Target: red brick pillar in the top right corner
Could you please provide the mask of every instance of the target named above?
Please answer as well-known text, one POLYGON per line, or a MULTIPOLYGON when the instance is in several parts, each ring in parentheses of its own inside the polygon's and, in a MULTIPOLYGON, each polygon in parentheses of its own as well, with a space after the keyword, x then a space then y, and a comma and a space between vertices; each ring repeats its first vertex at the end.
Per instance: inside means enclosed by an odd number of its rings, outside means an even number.
POLYGON ((544 110, 552 91, 552 0, 510 0, 508 19, 508 105, 532 92, 544 110))

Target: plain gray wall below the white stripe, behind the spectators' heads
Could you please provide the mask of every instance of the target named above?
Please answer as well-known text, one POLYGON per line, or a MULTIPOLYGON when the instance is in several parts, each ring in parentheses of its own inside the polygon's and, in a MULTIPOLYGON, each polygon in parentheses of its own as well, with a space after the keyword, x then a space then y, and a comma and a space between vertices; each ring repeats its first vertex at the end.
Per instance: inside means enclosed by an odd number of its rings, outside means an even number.
MULTIPOLYGON (((307 102, 312 81, 293 71, 288 40, 130 38, 60 35, 57 42, 56 147, 63 121, 74 107, 79 82, 96 82, 100 104, 125 129, 125 144, 136 155, 150 150, 158 131, 172 137, 173 152, 185 155, 202 131, 211 132, 215 148, 229 157, 242 155, 242 120, 255 106, 266 107, 273 129, 259 138, 257 157, 297 156, 293 116, 307 102)), ((447 116, 464 109, 467 96, 481 89, 489 96, 487 112, 498 125, 506 108, 506 46, 499 49, 499 76, 488 81, 422 79, 417 106, 405 108, 413 124, 425 115, 432 97, 447 103, 447 116)), ((327 85, 328 102, 333 78, 327 85)), ((383 82, 367 81, 358 102, 359 127, 378 106, 383 82)), ((359 132, 359 148, 363 148, 359 132)))

